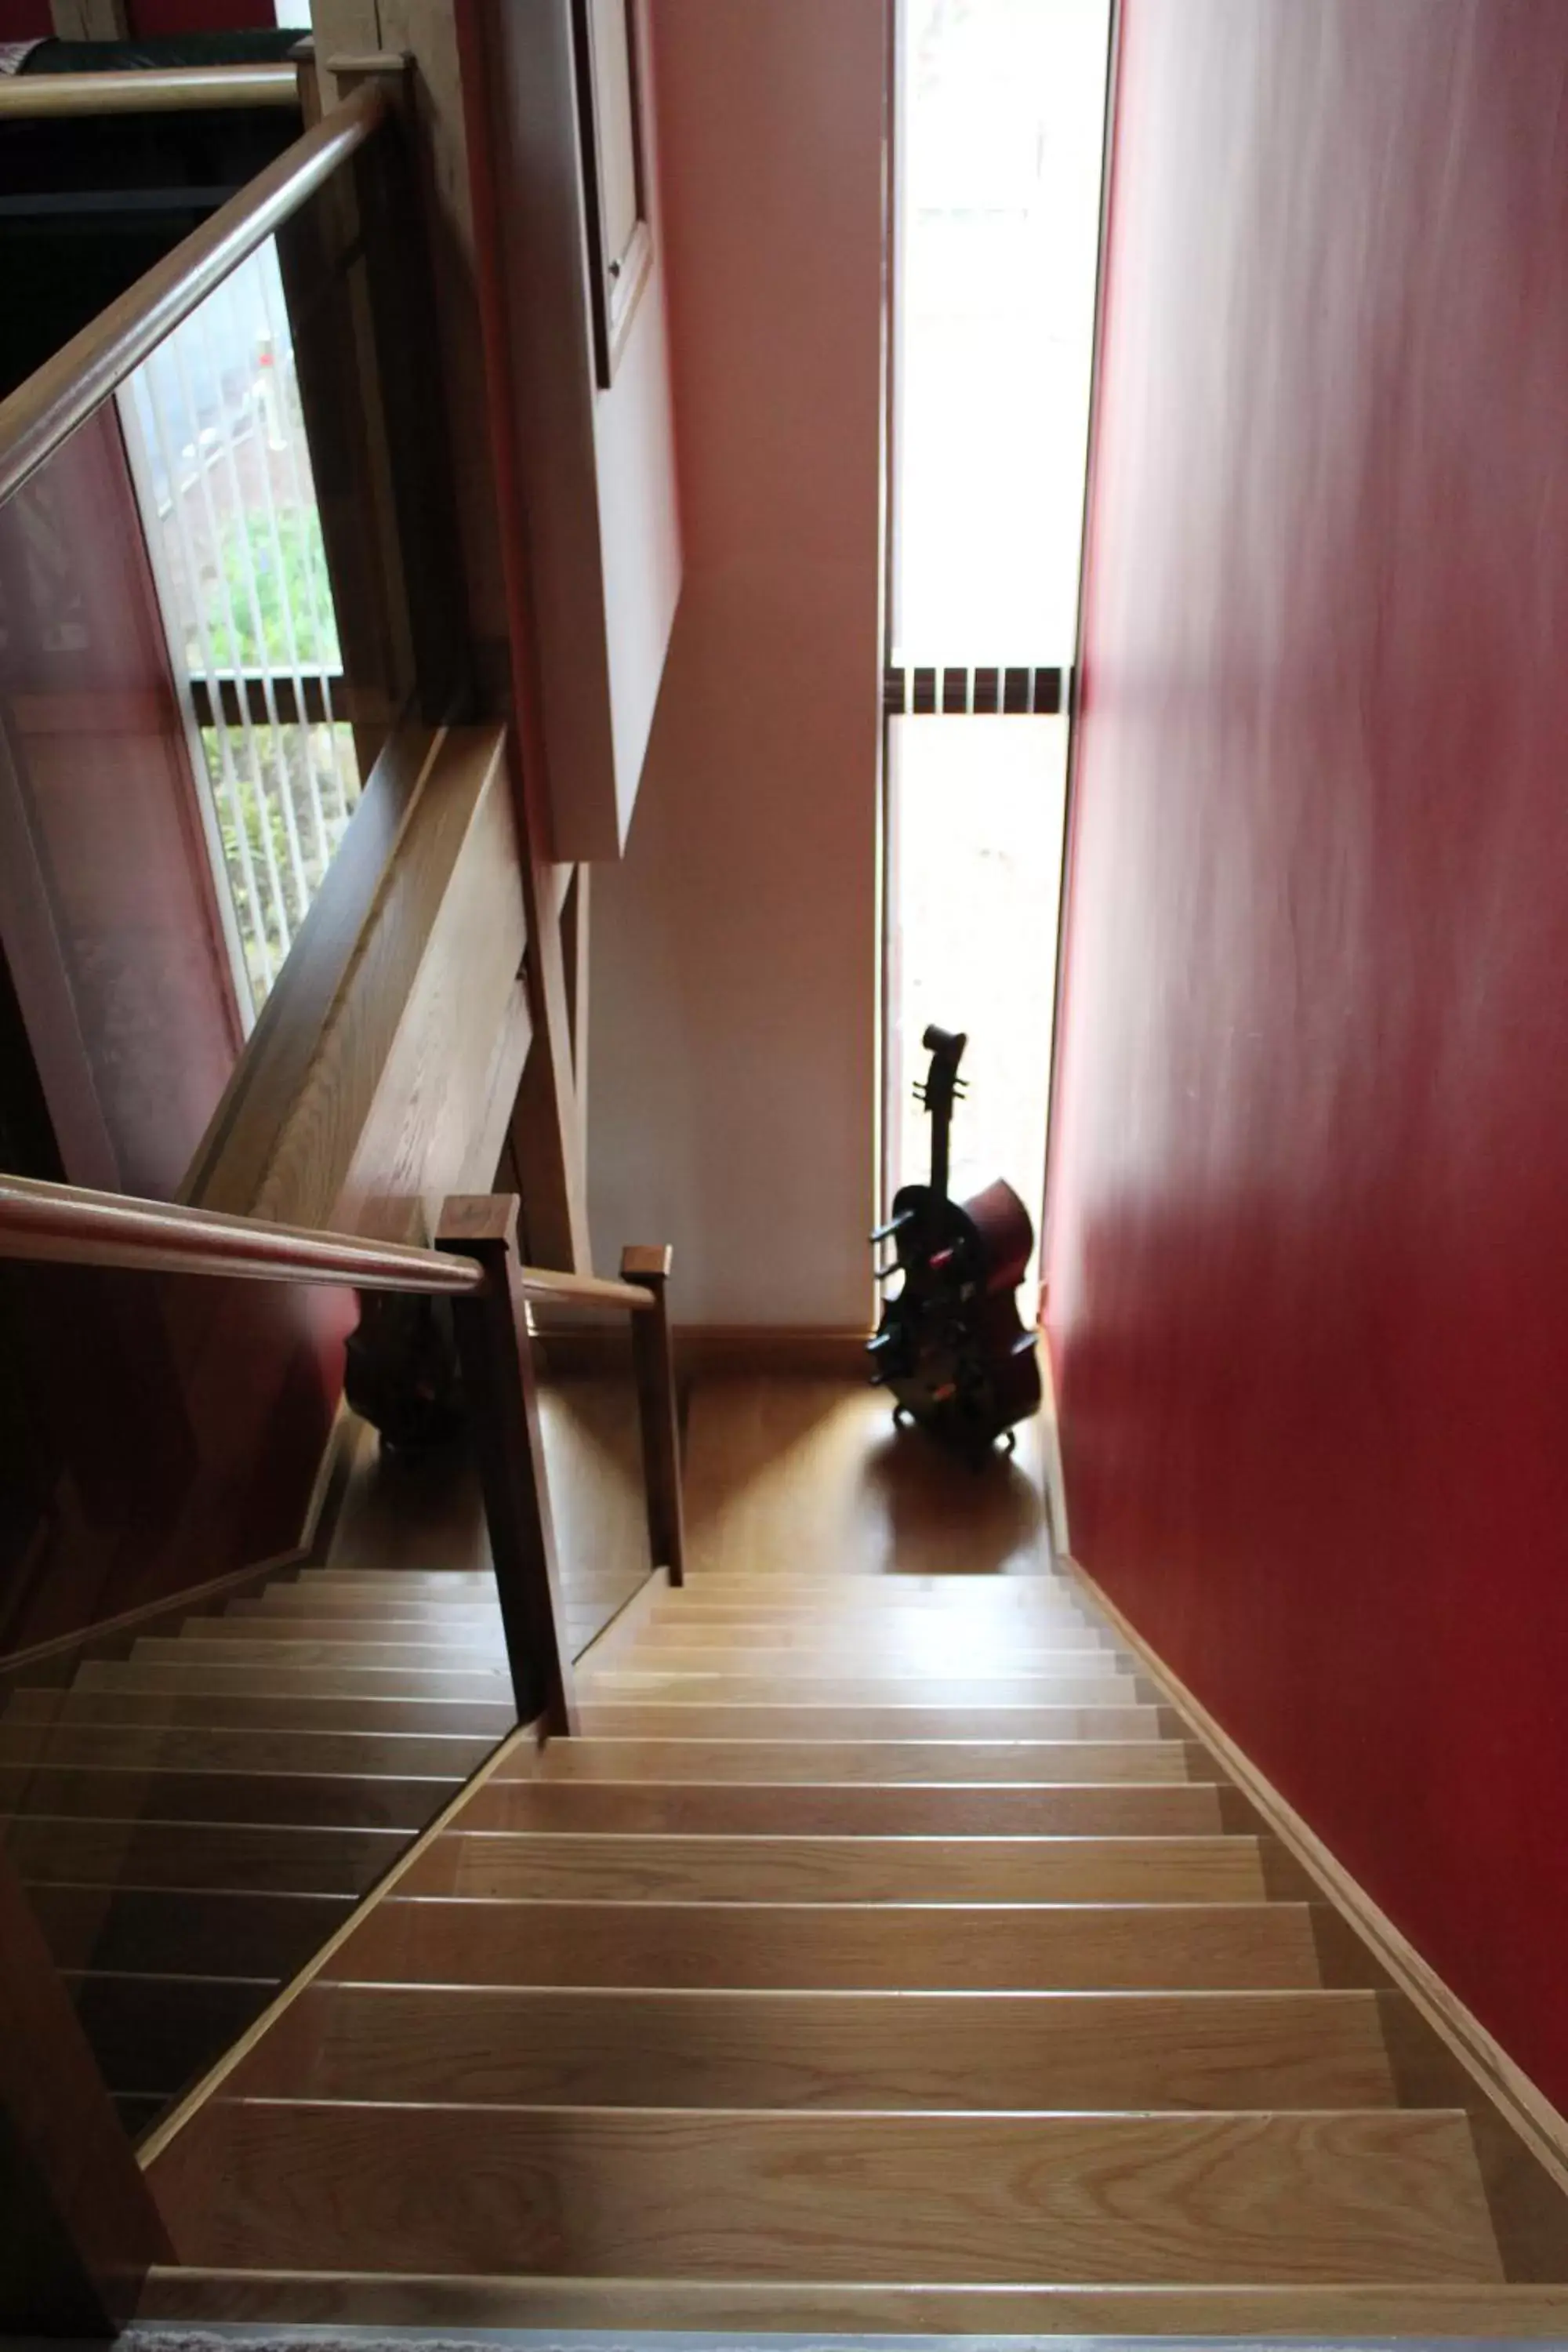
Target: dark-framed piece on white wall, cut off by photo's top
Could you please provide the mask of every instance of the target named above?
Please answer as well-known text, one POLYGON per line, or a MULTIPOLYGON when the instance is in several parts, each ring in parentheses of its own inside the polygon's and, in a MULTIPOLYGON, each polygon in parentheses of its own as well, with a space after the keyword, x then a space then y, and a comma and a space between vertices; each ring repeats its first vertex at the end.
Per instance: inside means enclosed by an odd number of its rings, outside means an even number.
POLYGON ((637 0, 571 0, 592 358, 599 390, 616 381, 637 303, 654 273, 637 0))

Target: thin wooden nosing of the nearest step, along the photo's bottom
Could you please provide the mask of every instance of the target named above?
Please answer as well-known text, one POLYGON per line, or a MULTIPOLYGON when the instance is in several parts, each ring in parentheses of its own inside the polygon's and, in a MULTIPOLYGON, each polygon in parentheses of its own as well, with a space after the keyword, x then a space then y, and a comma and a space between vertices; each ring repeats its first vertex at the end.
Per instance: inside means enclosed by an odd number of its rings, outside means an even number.
MULTIPOLYGON (((842 2286, 150 2270, 136 2326, 844 2336, 1568 2338, 1568 2286, 842 2286)), ((127 2338, 134 2345, 134 2333, 127 2338)), ((602 2352, 583 2345, 581 2352, 602 2352)), ((743 2347, 736 2347, 743 2352, 743 2347)), ((745 2347, 750 2352, 750 2347, 745 2347)))

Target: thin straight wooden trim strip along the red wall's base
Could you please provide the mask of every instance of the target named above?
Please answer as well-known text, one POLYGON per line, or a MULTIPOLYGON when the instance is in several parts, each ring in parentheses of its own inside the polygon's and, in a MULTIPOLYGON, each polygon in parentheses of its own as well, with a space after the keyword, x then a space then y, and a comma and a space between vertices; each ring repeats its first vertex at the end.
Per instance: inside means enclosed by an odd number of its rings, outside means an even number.
POLYGON ((1516 2065, 1502 2044, 1481 2025, 1472 2009, 1443 1983, 1429 1962, 1415 1950, 1408 1936, 1394 1926, 1389 1915, 1349 1875, 1345 1863, 1324 1844, 1274 1783, 1260 1771, 1244 1748, 1215 1722, 1208 1708, 1194 1698, 1187 1684, 1171 1672, 1159 1651, 1117 1609, 1110 1595, 1095 1583, 1088 1569, 1063 1557, 1067 1569, 1084 1585, 1088 1599, 1103 1611, 1117 1635, 1133 1649, 1152 1675, 1159 1677, 1168 1703, 1187 1722, 1190 1731, 1218 1757, 1239 1790, 1255 1804, 1267 1828, 1281 1846, 1300 1863, 1307 1877, 1324 1891, 1333 1907, 1352 1924, 1354 1933, 1387 1971, 1389 1980, 1420 2011, 1427 2025, 1453 2051, 1465 2072, 1479 2084, 1488 2105, 1500 2110, 1505 2122, 1519 2133, 1535 2161, 1552 2176, 1552 2183, 1568 2192, 1568 2117, 1563 2117, 1542 2091, 1516 2065))

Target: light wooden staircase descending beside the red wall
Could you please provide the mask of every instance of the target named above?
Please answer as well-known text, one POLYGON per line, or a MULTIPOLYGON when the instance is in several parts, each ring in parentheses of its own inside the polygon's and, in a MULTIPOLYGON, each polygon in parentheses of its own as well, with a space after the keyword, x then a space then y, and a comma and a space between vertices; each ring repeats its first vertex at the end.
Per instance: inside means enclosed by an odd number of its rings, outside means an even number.
POLYGON ((158 2145, 143 2317, 1568 2331, 1556 2185, 1072 1578, 703 1573, 581 1698, 158 2145))

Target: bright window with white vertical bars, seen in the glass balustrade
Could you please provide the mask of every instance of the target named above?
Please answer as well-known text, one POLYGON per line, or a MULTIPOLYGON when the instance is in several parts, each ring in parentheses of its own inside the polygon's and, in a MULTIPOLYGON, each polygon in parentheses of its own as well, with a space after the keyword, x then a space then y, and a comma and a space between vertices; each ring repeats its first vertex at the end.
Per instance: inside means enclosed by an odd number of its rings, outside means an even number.
POLYGON ((275 245, 118 397, 249 1023, 360 797, 275 245))

